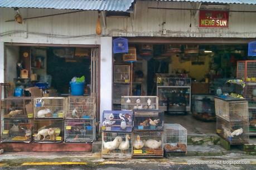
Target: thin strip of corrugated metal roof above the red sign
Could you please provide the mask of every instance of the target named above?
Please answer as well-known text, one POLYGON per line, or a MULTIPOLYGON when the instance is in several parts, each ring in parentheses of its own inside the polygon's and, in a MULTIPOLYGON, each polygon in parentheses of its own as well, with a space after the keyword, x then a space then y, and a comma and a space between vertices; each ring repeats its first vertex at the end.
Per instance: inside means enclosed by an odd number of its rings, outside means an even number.
POLYGON ((207 2, 207 3, 229 3, 229 4, 256 4, 256 0, 156 0, 156 1, 178 1, 178 2, 207 2))

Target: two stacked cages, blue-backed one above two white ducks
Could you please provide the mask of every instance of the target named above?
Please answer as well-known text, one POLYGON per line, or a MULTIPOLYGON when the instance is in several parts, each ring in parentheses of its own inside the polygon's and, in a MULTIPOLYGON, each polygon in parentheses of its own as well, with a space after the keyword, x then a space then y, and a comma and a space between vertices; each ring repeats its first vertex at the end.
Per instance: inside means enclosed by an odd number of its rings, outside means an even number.
POLYGON ((103 112, 103 158, 132 158, 132 120, 132 111, 103 112))

